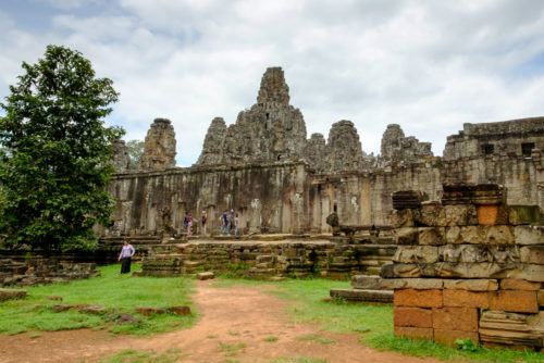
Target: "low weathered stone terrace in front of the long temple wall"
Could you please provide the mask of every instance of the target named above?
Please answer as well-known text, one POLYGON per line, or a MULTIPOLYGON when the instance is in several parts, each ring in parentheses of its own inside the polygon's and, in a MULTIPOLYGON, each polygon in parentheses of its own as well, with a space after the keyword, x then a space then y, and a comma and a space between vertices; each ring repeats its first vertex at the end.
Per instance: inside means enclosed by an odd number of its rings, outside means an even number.
POLYGON ((275 240, 194 240, 157 246, 143 260, 149 276, 190 275, 199 271, 231 273, 247 278, 321 276, 345 279, 376 273, 391 261, 395 247, 375 236, 332 240, 284 236, 275 240))

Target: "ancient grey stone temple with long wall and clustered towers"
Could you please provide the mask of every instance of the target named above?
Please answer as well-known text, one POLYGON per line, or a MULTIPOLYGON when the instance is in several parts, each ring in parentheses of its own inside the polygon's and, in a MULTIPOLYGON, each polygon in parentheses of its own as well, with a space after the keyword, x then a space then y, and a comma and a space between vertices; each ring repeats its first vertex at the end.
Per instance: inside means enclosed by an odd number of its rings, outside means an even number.
POLYGON ((235 209, 242 233, 251 234, 329 231, 333 211, 342 224, 388 225, 394 191, 438 200, 446 182, 496 183, 508 190, 507 203, 544 208, 544 117, 465 124, 448 137, 444 157, 399 125, 387 126, 381 154, 367 154, 353 122, 333 122, 327 138, 307 138, 280 67, 264 72, 257 103, 234 124, 213 118, 191 167, 175 167, 174 129, 158 118, 139 170, 118 163, 110 186, 114 223, 101 234, 176 234, 185 212, 201 211, 217 234, 226 209, 235 209))

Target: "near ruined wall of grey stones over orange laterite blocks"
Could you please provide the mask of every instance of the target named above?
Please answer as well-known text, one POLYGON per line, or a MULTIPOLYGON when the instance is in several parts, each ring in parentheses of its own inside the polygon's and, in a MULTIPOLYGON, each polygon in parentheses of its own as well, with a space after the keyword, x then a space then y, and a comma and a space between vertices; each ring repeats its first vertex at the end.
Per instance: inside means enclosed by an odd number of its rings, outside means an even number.
POLYGON ((393 196, 395 335, 446 345, 542 348, 544 215, 500 186, 444 185, 442 202, 393 196))

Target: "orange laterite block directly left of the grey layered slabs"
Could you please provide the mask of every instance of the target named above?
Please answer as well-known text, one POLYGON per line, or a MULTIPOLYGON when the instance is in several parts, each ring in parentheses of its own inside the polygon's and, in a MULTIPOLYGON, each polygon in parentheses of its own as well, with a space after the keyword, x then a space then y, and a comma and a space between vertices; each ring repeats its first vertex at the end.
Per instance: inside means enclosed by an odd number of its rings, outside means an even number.
POLYGON ((432 311, 435 329, 478 331, 477 308, 435 308, 432 311))

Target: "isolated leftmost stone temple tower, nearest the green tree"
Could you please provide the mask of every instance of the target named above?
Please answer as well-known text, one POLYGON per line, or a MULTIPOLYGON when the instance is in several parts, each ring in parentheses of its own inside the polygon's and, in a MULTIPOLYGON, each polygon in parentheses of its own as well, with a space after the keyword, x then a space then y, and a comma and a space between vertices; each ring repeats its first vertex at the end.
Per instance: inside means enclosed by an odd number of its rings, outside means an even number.
POLYGON ((164 170, 175 166, 175 133, 170 120, 154 118, 147 132, 140 170, 164 170))

